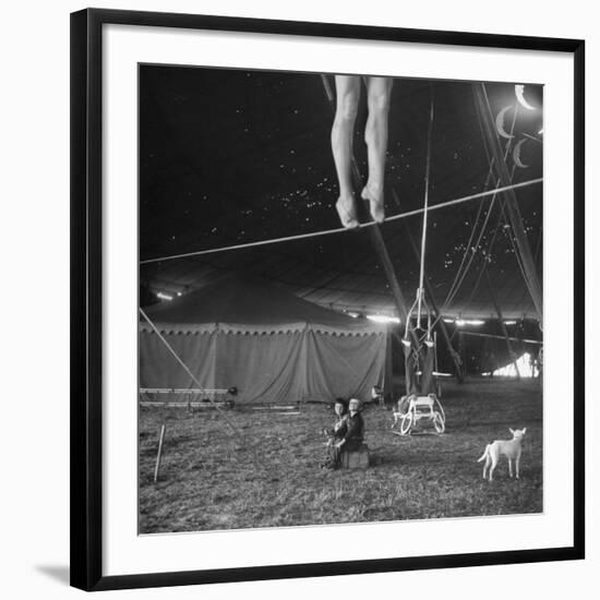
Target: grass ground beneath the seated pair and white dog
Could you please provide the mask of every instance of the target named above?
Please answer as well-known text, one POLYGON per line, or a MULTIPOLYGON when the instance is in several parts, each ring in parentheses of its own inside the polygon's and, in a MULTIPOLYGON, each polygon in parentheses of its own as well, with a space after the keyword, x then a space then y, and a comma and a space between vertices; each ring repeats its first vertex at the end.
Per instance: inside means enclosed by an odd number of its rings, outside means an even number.
POLYGON ((394 435, 391 408, 368 407, 372 467, 320 468, 331 408, 300 415, 237 408, 231 434, 213 410, 141 409, 140 532, 423 519, 542 511, 542 397, 537 381, 447 384, 443 435, 394 435), (160 476, 158 432, 167 425, 160 476), (485 444, 527 427, 521 478, 506 460, 481 478, 485 444))

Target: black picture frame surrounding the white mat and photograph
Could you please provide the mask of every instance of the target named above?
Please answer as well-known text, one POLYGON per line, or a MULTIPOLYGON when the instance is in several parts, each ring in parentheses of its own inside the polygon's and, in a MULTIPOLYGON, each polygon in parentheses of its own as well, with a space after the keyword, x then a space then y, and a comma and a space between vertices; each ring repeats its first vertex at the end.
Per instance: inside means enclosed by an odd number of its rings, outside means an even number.
POLYGON ((585 43, 509 35, 87 9, 71 15, 71 585, 109 590, 566 561, 585 556, 585 43), (574 543, 566 548, 103 575, 101 69, 107 24, 567 52, 574 57, 574 543))

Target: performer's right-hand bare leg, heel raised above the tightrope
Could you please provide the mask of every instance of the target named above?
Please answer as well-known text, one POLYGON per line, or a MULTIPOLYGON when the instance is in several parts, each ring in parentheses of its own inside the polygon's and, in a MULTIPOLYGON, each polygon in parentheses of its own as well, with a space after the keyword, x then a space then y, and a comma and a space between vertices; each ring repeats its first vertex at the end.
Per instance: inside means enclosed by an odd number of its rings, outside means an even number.
POLYGON ((364 129, 364 141, 369 157, 369 179, 361 196, 369 200, 371 216, 377 223, 383 223, 385 218, 383 189, 392 82, 393 80, 388 77, 368 77, 367 80, 369 118, 364 129))

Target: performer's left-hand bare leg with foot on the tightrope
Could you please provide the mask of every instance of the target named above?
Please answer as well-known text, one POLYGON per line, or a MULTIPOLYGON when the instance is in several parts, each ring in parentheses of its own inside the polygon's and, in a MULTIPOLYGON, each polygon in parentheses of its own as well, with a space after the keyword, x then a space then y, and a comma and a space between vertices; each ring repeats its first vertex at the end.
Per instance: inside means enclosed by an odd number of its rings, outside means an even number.
POLYGON ((341 225, 353 228, 358 227, 359 223, 352 190, 350 160, 352 157, 355 121, 360 99, 360 77, 336 75, 335 87, 337 104, 332 128, 332 149, 339 183, 339 199, 335 207, 341 225))

